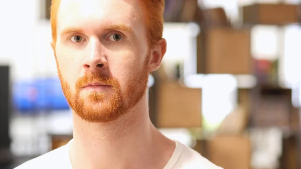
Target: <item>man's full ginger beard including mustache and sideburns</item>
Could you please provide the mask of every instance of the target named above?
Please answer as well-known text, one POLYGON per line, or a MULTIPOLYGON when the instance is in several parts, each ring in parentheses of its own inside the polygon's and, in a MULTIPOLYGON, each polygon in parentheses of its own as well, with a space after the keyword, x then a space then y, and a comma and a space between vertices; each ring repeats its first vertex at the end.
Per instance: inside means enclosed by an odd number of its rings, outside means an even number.
POLYGON ((149 54, 144 62, 143 70, 137 72, 136 75, 129 75, 123 93, 116 79, 101 72, 85 73, 76 81, 75 92, 72 92, 68 82, 61 75, 58 62, 57 69, 63 93, 73 111, 85 121, 107 123, 129 112, 146 93, 149 74, 148 62, 149 54), (81 87, 95 82, 111 86, 109 90, 113 90, 113 94, 107 91, 93 91, 89 93, 88 97, 81 97, 81 87))

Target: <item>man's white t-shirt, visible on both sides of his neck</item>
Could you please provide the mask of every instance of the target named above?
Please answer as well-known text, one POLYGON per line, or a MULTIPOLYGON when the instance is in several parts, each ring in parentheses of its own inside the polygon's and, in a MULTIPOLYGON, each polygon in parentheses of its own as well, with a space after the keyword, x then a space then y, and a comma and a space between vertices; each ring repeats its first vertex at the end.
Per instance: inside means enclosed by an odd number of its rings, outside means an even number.
MULTIPOLYGON (((70 142, 60 148, 29 160, 15 169, 72 169, 69 159, 70 142)), ((175 151, 163 169, 222 169, 204 158, 197 151, 179 141, 175 142, 175 151)))

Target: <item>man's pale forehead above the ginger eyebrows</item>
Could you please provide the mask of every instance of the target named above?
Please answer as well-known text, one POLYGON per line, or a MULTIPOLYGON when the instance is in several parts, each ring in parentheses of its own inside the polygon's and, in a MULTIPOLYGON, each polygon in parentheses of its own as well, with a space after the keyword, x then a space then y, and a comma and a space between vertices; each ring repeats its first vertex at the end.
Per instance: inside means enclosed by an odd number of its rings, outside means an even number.
POLYGON ((124 24, 141 27, 139 0, 61 0, 57 14, 57 31, 69 27, 100 28, 124 24))

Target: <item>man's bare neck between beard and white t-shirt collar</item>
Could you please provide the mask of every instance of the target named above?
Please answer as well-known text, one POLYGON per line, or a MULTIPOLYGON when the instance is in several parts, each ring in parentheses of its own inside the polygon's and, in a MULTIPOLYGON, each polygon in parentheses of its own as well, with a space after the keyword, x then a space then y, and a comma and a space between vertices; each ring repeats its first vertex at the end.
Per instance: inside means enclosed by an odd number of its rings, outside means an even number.
POLYGON ((76 113, 73 121, 70 159, 75 169, 145 168, 154 164, 163 168, 175 148, 174 142, 150 122, 146 95, 113 122, 90 123, 76 113))

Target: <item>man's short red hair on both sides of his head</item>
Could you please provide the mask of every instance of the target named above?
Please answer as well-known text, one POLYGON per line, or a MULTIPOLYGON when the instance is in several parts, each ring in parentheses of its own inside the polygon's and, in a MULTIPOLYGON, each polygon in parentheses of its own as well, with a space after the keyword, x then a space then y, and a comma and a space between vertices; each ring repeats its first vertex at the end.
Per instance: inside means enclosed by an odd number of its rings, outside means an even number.
MULTIPOLYGON (((148 34, 148 44, 153 46, 162 39, 163 36, 163 13, 165 0, 139 0, 144 11, 144 23, 146 24, 148 34)), ((52 0, 50 22, 52 29, 53 43, 57 41, 57 13, 60 6, 60 0, 52 0)))

